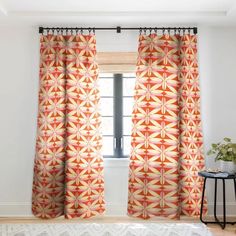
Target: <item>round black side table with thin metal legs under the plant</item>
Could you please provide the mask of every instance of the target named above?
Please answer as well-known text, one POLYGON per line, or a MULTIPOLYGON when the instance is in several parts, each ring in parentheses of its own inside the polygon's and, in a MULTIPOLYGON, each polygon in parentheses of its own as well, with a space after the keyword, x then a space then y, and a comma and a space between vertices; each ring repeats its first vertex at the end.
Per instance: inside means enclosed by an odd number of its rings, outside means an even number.
POLYGON ((226 221, 226 208, 225 208, 225 180, 227 179, 232 179, 234 182, 234 192, 235 192, 235 200, 236 200, 236 174, 234 175, 229 175, 228 177, 217 177, 214 175, 209 175, 208 172, 206 171, 201 171, 198 173, 199 176, 204 178, 204 183, 203 183, 203 190, 202 190, 202 202, 201 202, 201 211, 200 211, 200 220, 204 224, 219 224, 222 229, 225 228, 226 224, 236 224, 236 222, 228 222, 226 221), (204 195, 205 195, 205 188, 206 188, 206 180, 214 179, 215 180, 215 194, 214 194, 214 218, 215 221, 205 221, 202 219, 202 210, 203 210, 203 204, 204 204, 204 195), (217 180, 221 179, 223 183, 223 222, 218 219, 216 216, 216 202, 217 202, 217 180))

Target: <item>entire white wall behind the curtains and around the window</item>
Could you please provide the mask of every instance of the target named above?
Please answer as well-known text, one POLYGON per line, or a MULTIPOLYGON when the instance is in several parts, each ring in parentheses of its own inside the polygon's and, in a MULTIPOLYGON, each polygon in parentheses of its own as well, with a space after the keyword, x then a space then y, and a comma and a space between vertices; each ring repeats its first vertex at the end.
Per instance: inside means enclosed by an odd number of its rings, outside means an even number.
MULTIPOLYGON (((98 51, 136 51, 136 32, 97 33, 98 51)), ((199 64, 205 146, 236 141, 236 28, 200 27, 199 64)), ((0 28, 0 216, 31 215, 39 65, 38 29, 0 28)), ((207 159, 207 165, 214 162, 207 159)), ((105 161, 107 214, 125 215, 128 162, 105 161)), ((236 212, 233 189, 227 197, 236 212)), ((210 213, 212 183, 208 185, 210 213)))

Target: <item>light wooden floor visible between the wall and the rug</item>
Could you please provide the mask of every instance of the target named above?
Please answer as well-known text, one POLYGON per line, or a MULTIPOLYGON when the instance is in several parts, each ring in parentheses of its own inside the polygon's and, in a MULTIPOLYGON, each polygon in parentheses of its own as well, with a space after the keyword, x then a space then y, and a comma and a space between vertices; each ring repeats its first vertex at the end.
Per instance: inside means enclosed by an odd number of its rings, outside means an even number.
MULTIPOLYGON (((233 219, 235 221, 235 219, 233 219)), ((0 217, 0 224, 16 224, 16 223, 141 223, 141 222, 149 222, 149 223, 169 223, 169 222, 178 222, 178 223, 198 223, 200 222, 197 218, 190 217, 181 217, 180 221, 167 220, 166 218, 158 217, 151 220, 141 220, 131 217, 115 217, 115 216, 103 216, 96 217, 88 220, 79 220, 72 219, 66 220, 63 217, 52 219, 52 220, 42 220, 37 218, 13 218, 13 217, 0 217)), ((236 225, 227 225, 226 229, 222 230, 220 226, 214 224, 207 225, 210 231, 214 236, 236 236, 236 225)))

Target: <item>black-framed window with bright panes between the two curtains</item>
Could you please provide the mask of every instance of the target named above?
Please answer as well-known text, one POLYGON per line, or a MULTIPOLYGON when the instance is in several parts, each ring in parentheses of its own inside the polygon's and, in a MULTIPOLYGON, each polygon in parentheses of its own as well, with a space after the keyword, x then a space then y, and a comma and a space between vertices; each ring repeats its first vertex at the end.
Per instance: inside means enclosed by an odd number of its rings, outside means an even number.
POLYGON ((130 155, 135 74, 100 74, 103 156, 130 155))

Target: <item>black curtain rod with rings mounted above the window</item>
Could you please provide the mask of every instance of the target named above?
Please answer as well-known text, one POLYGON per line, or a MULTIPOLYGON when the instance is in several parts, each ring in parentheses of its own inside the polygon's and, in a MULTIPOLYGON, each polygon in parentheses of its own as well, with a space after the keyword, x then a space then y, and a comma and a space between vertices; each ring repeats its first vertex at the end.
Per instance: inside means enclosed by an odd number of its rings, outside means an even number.
POLYGON ((80 31, 83 31, 83 30, 88 30, 89 32, 90 31, 93 31, 95 32, 96 30, 116 30, 117 33, 121 33, 121 30, 139 30, 140 32, 141 31, 157 31, 157 30, 162 30, 162 31, 170 31, 170 30, 175 30, 175 31, 180 31, 180 30, 193 30, 193 33, 194 34, 197 34, 197 27, 134 27, 134 28, 130 28, 130 27, 121 27, 121 26, 117 26, 117 27, 42 27, 40 26, 39 27, 39 33, 40 34, 43 34, 43 31, 44 30, 57 30, 57 31, 60 31, 60 30, 80 30, 80 31))

